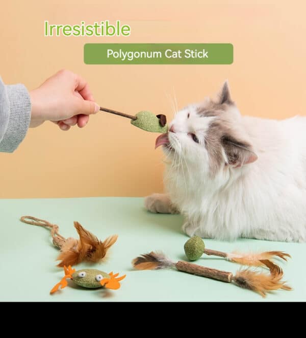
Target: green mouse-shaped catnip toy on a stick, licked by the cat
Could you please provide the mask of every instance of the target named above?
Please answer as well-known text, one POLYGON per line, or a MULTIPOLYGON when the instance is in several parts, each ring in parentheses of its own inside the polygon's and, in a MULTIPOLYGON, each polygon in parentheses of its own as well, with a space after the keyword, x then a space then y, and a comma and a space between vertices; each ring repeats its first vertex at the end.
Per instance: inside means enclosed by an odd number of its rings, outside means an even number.
POLYGON ((127 119, 131 119, 131 124, 140 129, 150 132, 166 133, 168 131, 167 118, 165 115, 155 116, 150 111, 139 111, 136 116, 124 114, 124 112, 116 111, 113 109, 100 107, 101 111, 110 112, 111 114, 119 115, 127 119))

